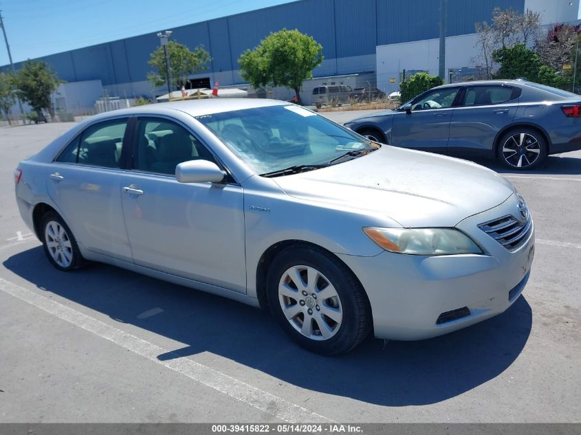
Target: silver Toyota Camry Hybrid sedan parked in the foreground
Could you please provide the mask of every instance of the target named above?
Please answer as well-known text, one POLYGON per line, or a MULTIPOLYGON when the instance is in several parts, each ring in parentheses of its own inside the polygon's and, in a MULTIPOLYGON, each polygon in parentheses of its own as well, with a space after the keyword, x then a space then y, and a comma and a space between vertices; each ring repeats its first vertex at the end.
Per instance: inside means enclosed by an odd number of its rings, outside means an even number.
POLYGON ((527 205, 496 172, 274 100, 97 115, 14 181, 57 269, 109 263, 261 306, 326 355, 502 313, 534 256, 527 205))

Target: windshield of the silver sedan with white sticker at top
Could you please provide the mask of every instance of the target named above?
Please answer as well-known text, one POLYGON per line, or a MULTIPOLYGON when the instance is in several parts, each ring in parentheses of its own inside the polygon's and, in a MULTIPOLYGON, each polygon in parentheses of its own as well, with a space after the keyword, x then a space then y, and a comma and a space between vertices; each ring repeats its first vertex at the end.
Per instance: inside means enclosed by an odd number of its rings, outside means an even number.
POLYGON ((325 166, 343 155, 364 155, 378 148, 360 135, 293 104, 257 107, 196 119, 256 173, 295 166, 325 166))

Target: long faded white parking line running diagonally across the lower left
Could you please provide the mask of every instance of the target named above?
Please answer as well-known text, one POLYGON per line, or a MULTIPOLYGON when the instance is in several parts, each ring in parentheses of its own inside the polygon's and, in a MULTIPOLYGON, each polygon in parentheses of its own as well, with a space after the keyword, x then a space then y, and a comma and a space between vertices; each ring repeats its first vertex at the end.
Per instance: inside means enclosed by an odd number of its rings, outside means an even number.
POLYGON ((281 419, 289 423, 300 423, 305 421, 313 423, 333 423, 332 420, 327 419, 325 416, 316 414, 316 412, 311 412, 302 406, 295 405, 281 397, 270 394, 270 392, 253 387, 248 383, 234 379, 231 376, 225 375, 222 372, 204 366, 203 364, 199 364, 186 357, 178 357, 176 355, 174 359, 160 361, 157 357, 164 353, 168 353, 168 350, 150 342, 146 342, 144 339, 135 337, 135 335, 121 331, 120 329, 94 319, 89 315, 80 313, 68 306, 59 304, 54 300, 45 298, 43 295, 34 293, 34 291, 20 287, 19 285, 4 280, 3 278, 0 278, 0 290, 14 296, 14 298, 28 302, 29 304, 34 305, 61 320, 65 320, 79 328, 83 328, 85 331, 94 333, 95 335, 98 335, 98 337, 107 339, 127 350, 131 350, 131 352, 145 357, 150 361, 178 372, 180 375, 184 375, 194 381, 204 384, 205 386, 213 388, 216 391, 246 403, 257 410, 270 414, 276 419, 281 419))

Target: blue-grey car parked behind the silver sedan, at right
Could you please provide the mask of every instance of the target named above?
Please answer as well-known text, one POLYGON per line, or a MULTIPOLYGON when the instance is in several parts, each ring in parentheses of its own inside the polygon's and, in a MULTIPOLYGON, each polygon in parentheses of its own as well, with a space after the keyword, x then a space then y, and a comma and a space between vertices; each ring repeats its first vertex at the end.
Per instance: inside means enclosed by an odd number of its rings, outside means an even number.
POLYGON ((527 170, 581 149, 581 96, 525 80, 454 83, 345 126, 384 144, 527 170))

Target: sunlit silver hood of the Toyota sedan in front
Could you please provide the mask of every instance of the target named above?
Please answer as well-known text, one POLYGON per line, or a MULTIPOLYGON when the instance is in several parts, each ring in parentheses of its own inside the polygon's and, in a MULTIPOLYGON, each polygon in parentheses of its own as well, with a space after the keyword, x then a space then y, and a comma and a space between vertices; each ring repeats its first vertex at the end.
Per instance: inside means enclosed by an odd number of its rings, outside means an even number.
POLYGON ((452 227, 514 192, 509 181, 483 166, 386 145, 342 164, 274 181, 291 197, 348 205, 403 227, 452 227))

